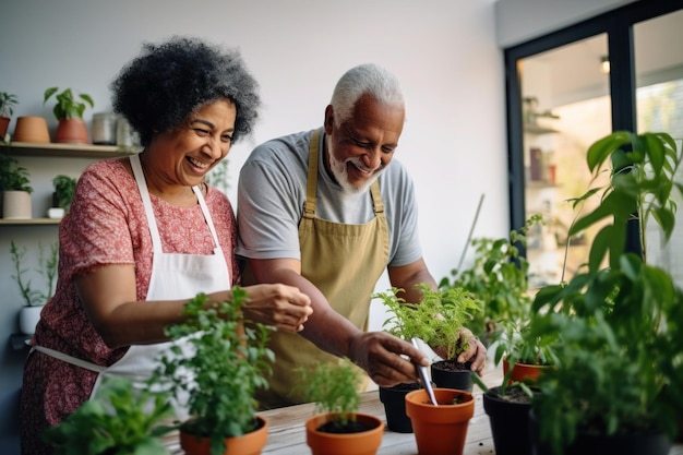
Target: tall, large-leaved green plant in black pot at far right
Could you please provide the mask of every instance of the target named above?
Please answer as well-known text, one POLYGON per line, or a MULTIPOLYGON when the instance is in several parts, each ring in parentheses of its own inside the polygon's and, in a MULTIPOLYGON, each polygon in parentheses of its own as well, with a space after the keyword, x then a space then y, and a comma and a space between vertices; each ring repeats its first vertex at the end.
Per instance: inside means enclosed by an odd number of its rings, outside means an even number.
POLYGON ((683 292, 647 263, 644 232, 650 220, 664 239, 673 231, 681 152, 666 133, 618 131, 587 153, 594 176, 610 163, 609 184, 577 200, 599 194, 600 204, 570 228, 576 235, 610 221, 587 267, 541 288, 534 302, 532 334, 562 333, 558 363, 539 378, 535 441, 553 454, 668 454, 683 410, 683 292), (642 254, 626 251, 630 223, 639 227, 642 254))

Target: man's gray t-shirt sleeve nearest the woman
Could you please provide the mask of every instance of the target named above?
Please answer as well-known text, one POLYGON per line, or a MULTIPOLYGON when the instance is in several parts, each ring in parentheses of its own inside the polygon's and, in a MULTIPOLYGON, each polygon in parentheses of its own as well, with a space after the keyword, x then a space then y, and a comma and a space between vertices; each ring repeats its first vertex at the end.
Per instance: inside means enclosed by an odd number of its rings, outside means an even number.
POLYGON ((299 184, 281 168, 250 160, 238 184, 237 254, 248 259, 301 259, 299 184))

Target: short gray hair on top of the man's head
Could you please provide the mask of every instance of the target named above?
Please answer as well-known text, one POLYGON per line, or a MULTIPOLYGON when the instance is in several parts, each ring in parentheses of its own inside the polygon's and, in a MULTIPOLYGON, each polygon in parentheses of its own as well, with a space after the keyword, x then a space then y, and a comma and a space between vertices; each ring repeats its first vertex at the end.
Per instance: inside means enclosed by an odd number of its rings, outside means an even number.
POLYGON ((351 117, 356 101, 366 94, 383 105, 405 108, 403 92, 394 74, 374 63, 359 64, 344 73, 332 94, 329 104, 336 125, 351 117))

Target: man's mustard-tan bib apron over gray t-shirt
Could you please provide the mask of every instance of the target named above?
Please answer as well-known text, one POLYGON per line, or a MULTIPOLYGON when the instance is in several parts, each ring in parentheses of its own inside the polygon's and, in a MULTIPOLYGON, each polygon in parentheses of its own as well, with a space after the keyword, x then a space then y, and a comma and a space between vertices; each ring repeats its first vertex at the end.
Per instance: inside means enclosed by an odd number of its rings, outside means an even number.
MULTIPOLYGON (((375 217, 369 223, 343 225, 316 218, 321 131, 313 134, 309 148, 307 201, 299 225, 301 275, 322 291, 335 311, 364 331, 370 296, 388 262, 388 228, 380 184, 375 181, 370 187, 375 217)), ((271 348, 275 352, 271 388, 260 391, 256 396, 264 409, 303 402, 301 393, 292 392, 299 384, 296 368, 311 369, 320 362, 338 361, 336 356, 324 352, 298 334, 275 332, 271 348)), ((364 390, 368 379, 364 373, 362 376, 364 390)))

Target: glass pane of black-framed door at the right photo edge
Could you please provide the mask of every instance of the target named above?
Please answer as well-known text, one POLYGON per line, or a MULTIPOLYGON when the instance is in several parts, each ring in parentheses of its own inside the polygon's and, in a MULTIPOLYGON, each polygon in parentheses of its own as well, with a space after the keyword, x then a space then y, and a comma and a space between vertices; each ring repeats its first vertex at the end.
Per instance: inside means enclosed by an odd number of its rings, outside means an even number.
MULTIPOLYGON (((636 23, 633 27, 638 132, 667 132, 683 139, 683 11, 636 23)), ((679 168, 678 181, 683 183, 679 168)), ((679 197, 676 228, 668 244, 658 226, 647 227, 647 262, 667 268, 683 286, 683 201, 679 197)))

